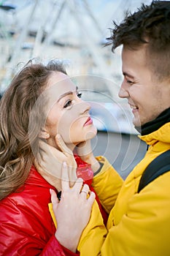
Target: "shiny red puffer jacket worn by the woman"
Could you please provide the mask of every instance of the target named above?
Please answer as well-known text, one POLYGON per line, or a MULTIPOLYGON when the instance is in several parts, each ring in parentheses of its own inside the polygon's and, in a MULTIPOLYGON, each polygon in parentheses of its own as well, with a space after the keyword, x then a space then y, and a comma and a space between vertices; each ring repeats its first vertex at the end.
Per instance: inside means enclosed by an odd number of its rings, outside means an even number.
POLYGON ((24 186, 0 201, 0 255, 76 255, 54 236, 50 188, 54 189, 31 167, 24 186))

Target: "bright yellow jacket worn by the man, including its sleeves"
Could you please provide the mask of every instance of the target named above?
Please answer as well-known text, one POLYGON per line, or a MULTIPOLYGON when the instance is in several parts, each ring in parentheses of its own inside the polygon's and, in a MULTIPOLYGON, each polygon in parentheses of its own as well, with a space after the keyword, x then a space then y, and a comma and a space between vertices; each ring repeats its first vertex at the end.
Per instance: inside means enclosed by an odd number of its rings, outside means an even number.
POLYGON ((93 187, 109 212, 109 219, 106 230, 94 203, 78 246, 81 256, 170 255, 170 172, 137 192, 147 165, 170 149, 170 123, 140 138, 150 148, 124 182, 107 159, 98 157, 104 167, 93 178, 93 187))

